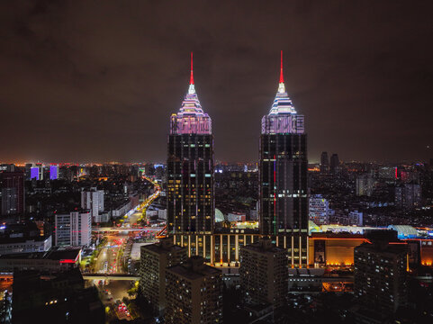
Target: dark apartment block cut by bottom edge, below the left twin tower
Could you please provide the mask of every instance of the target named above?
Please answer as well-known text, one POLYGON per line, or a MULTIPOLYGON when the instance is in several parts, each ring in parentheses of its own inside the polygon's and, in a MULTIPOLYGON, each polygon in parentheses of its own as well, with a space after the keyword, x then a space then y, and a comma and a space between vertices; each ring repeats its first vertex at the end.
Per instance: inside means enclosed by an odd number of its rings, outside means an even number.
POLYGON ((221 323, 221 270, 206 266, 203 257, 198 256, 168 267, 166 301, 167 324, 221 323))

